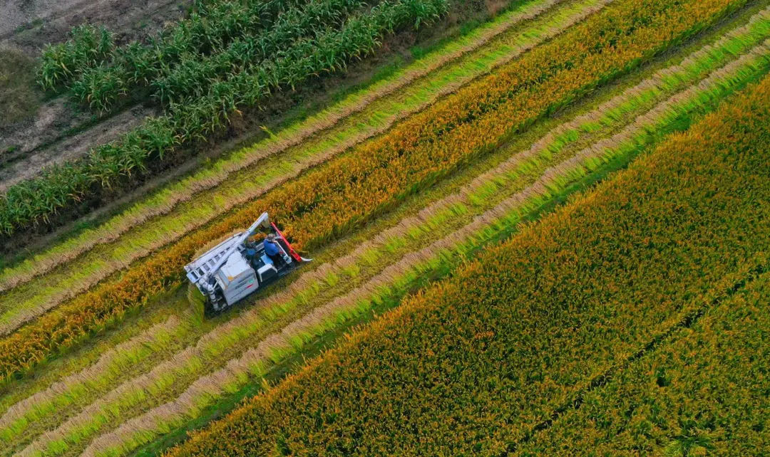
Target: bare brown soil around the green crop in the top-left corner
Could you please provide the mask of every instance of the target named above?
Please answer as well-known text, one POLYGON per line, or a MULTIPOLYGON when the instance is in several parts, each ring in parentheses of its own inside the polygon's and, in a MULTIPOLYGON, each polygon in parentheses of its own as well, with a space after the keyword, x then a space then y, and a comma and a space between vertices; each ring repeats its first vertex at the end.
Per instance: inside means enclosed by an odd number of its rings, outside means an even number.
POLYGON ((41 103, 44 94, 35 85, 34 73, 43 45, 64 41, 73 26, 85 22, 105 25, 119 42, 142 39, 182 17, 192 0, 5 3, 0 8, 0 105, 8 108, 0 112, 0 190, 45 165, 78 157, 90 146, 115 138, 151 112, 132 109, 96 119, 65 97, 41 103))

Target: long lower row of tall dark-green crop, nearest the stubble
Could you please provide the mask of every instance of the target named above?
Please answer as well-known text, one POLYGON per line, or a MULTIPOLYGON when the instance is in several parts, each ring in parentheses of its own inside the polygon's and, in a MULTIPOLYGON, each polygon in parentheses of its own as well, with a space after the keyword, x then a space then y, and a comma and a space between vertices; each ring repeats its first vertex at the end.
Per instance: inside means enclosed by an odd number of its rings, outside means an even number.
MULTIPOLYGON (((336 0, 329 2, 336 4, 336 0)), ((447 7, 446 0, 380 2, 351 16, 340 28, 316 28, 312 38, 285 43, 285 48, 263 60, 253 72, 236 72, 213 82, 206 95, 171 105, 165 115, 147 118, 119 140, 92 149, 85 158, 12 185, 0 200, 0 230, 12 234, 48 222, 95 188, 141 174, 150 161, 163 160, 180 145, 205 139, 227 125, 233 113, 259 105, 276 89, 345 68, 351 60, 370 55, 383 35, 433 21, 447 7)))

